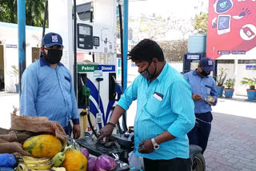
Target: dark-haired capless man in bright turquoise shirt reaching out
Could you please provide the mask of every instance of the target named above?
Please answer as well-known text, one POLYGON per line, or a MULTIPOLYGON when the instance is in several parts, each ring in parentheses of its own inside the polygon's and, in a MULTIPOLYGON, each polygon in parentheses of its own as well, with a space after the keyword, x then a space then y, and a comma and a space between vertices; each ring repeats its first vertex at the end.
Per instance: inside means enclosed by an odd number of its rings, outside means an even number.
POLYGON ((164 59, 162 49, 144 39, 130 51, 138 75, 98 134, 108 137, 118 118, 137 100, 134 121, 134 153, 143 157, 146 171, 190 170, 186 133, 194 127, 194 102, 190 85, 164 59))

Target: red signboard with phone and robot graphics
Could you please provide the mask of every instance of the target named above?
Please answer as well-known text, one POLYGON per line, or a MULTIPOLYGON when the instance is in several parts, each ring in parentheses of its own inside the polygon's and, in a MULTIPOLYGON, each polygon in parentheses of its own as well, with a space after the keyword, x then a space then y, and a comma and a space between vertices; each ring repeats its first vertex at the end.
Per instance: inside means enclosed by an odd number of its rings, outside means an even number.
POLYGON ((206 56, 246 54, 256 46, 256 0, 210 0, 206 56))

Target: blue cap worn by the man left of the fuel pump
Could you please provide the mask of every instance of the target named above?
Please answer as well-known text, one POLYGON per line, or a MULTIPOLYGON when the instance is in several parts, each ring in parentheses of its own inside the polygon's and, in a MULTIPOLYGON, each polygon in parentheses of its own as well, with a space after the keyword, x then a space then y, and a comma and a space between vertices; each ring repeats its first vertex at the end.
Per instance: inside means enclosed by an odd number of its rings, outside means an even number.
POLYGON ((59 34, 49 33, 42 38, 42 46, 62 46, 62 37, 59 34))

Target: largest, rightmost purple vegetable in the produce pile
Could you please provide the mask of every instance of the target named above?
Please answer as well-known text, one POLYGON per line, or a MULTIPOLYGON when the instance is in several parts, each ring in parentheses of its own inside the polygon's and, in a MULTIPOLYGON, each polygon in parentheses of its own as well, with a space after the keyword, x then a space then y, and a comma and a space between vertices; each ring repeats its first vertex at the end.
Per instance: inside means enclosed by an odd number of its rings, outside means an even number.
POLYGON ((103 154, 97 158, 94 171, 110 171, 116 169, 116 167, 117 163, 114 158, 103 154))

